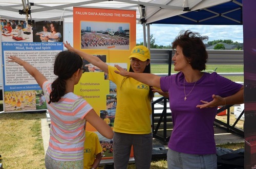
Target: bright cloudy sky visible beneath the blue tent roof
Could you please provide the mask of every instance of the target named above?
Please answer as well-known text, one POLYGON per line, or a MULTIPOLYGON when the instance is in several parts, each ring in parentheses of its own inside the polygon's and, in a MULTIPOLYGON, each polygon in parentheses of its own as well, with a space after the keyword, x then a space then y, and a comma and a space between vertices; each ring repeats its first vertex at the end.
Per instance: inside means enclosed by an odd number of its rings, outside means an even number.
MULTIPOLYGON (((208 41, 231 39, 234 42, 243 43, 242 25, 150 25, 150 34, 153 34, 155 44, 163 46, 172 45, 173 40, 181 30, 191 30, 203 36, 208 36, 208 41)), ((143 27, 142 25, 136 24, 136 43, 140 42, 143 42, 143 27)))

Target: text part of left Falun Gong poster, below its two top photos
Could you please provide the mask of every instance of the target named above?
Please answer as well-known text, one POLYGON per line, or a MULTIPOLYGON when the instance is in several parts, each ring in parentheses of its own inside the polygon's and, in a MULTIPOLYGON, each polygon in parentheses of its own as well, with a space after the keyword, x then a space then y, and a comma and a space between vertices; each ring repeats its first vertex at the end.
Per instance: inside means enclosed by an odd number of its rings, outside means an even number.
POLYGON ((54 81, 54 56, 63 50, 62 43, 2 42, 4 112, 46 110, 46 100, 40 86, 23 66, 8 62, 17 56, 35 66, 45 77, 54 81))

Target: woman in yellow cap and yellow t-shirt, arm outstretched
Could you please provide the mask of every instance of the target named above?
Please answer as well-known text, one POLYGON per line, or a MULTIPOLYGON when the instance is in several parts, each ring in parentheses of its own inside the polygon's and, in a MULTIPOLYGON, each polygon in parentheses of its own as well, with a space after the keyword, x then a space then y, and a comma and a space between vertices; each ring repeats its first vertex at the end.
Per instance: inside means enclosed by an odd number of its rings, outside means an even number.
MULTIPOLYGON (((150 168, 152 158, 151 101, 154 96, 151 87, 133 78, 115 74, 115 67, 98 57, 74 49, 64 43, 69 51, 109 73, 109 80, 117 86, 117 107, 114 122, 114 167, 126 169, 133 146, 135 165, 138 169, 150 168), (128 122, 129 120, 129 122, 128 122)), ((150 51, 145 46, 135 46, 129 56, 129 71, 150 74, 150 51)))

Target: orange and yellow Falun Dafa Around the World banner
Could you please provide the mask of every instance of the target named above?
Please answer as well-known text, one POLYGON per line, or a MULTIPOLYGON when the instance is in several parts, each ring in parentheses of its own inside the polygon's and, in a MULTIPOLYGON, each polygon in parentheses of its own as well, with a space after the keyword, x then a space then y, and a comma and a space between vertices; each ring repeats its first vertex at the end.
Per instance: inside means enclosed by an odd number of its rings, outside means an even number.
MULTIPOLYGON (((136 45, 135 10, 74 8, 73 12, 76 49, 97 56, 106 64, 130 67, 128 57, 136 45)), ((116 86, 100 68, 85 60, 83 66, 87 72, 75 86, 75 93, 86 99, 113 128, 118 104, 116 86)), ((98 134, 103 148, 102 158, 113 158, 113 140, 101 136, 90 124, 86 130, 98 134)))

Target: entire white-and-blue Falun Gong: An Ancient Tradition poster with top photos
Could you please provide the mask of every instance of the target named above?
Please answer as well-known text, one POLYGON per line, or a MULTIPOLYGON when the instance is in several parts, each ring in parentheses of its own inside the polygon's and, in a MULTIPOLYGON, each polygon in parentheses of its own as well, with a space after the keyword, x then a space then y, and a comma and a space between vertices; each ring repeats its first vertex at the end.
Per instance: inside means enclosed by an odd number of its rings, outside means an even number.
POLYGON ((42 89, 23 66, 8 62, 17 56, 35 66, 45 77, 55 80, 55 56, 63 51, 63 22, 6 20, 2 27, 4 112, 47 110, 42 89))

